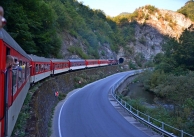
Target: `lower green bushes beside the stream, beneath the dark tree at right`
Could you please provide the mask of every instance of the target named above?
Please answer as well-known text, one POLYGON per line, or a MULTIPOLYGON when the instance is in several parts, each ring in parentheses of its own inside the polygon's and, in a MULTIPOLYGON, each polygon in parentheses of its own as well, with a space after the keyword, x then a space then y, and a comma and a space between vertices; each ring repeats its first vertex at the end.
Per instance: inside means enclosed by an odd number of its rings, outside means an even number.
POLYGON ((177 68, 171 73, 164 73, 161 68, 153 72, 146 71, 138 77, 138 80, 143 82, 146 90, 153 92, 156 96, 163 98, 163 100, 166 100, 166 102, 174 106, 173 110, 167 113, 168 116, 173 116, 173 119, 170 121, 167 120, 170 117, 166 117, 166 115, 155 115, 158 110, 151 111, 150 114, 152 116, 170 125, 176 125, 177 128, 183 129, 188 133, 194 134, 194 72, 190 71, 186 73, 181 67, 179 69, 179 73, 175 73, 177 68))

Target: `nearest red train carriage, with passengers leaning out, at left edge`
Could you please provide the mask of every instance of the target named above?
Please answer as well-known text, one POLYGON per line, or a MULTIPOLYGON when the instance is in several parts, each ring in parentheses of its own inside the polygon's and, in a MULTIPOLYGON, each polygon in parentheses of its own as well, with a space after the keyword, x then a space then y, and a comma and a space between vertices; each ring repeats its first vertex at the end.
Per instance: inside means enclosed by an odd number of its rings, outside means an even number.
POLYGON ((0 52, 0 136, 11 136, 30 87, 30 58, 4 29, 0 30, 0 52), (7 55, 25 67, 6 69, 7 55))

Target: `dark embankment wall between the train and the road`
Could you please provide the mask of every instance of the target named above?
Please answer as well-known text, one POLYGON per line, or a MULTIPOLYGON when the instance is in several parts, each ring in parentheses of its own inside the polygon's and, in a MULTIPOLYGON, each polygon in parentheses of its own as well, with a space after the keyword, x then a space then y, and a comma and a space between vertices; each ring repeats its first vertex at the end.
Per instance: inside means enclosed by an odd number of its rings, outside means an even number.
POLYGON ((25 130, 26 137, 48 137, 53 109, 59 102, 59 99, 54 96, 56 91, 59 94, 67 94, 75 89, 75 85, 79 83, 76 77, 83 75, 87 76, 88 79, 93 77, 90 79, 91 82, 91 80, 95 81, 116 72, 118 72, 118 66, 85 69, 48 78, 39 86, 36 84, 38 87, 30 103, 30 118, 25 130), (98 75, 102 73, 103 75, 98 75))

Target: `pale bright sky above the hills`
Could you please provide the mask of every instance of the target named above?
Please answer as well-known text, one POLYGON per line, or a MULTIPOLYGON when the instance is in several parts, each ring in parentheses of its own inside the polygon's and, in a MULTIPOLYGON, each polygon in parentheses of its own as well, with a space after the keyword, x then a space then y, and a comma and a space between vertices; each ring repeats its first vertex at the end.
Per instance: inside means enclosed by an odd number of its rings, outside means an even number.
POLYGON ((122 12, 133 13, 135 9, 152 5, 158 9, 177 11, 189 0, 77 0, 91 9, 100 9, 106 15, 117 16, 122 12))

